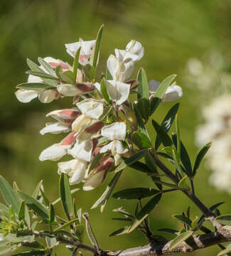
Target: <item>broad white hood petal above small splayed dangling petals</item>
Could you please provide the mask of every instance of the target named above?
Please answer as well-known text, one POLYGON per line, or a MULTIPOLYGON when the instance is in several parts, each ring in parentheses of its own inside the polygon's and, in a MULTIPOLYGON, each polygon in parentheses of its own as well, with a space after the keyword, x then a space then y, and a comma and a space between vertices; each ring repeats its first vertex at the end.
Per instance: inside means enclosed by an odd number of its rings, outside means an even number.
POLYGON ((102 127, 101 134, 109 140, 119 139, 124 141, 126 136, 126 124, 124 122, 114 122, 102 127))

